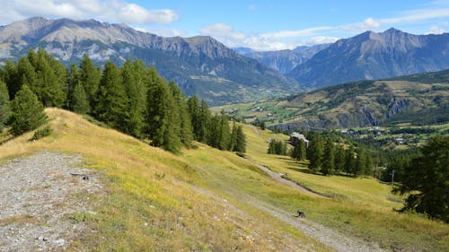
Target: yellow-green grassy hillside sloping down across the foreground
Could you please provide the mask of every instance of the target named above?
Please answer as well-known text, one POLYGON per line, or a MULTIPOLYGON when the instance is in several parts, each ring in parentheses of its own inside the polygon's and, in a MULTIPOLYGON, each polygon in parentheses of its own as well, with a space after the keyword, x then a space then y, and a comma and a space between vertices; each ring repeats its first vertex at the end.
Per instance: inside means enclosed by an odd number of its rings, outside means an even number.
POLYGON ((448 225, 394 213, 401 199, 389 186, 372 178, 313 175, 304 163, 265 153, 269 138, 285 136, 244 126, 251 161, 200 143, 176 156, 71 112, 46 111, 53 135, 36 142, 28 141, 32 133, 14 138, 0 145, 0 159, 44 150, 80 153, 84 165, 102 175, 105 193, 91 199, 97 214, 79 213, 97 231, 80 237, 73 250, 332 251, 298 228, 318 223, 387 250, 449 248, 448 225), (279 184, 254 163, 329 198, 279 184), (297 209, 305 220, 291 217, 297 209))

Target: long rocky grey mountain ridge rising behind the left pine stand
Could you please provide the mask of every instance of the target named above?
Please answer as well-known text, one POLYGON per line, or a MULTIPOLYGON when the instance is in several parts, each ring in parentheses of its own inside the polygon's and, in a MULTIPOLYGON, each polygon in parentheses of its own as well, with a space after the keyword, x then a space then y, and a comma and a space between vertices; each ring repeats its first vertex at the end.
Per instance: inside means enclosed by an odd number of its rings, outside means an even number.
POLYGON ((99 65, 139 58, 186 94, 198 93, 212 104, 257 100, 298 88, 295 81, 211 37, 163 38, 126 24, 40 17, 0 27, 1 62, 39 47, 67 65, 84 54, 99 65))

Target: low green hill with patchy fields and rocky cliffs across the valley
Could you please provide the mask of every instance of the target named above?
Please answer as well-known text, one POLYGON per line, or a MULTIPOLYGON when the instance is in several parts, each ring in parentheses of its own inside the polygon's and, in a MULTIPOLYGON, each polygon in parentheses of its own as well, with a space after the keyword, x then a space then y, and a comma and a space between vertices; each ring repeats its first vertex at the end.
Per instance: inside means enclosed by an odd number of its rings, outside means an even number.
POLYGON ((220 109, 288 130, 449 123, 449 70, 343 83, 286 99, 220 109))

